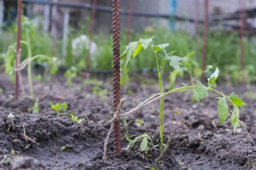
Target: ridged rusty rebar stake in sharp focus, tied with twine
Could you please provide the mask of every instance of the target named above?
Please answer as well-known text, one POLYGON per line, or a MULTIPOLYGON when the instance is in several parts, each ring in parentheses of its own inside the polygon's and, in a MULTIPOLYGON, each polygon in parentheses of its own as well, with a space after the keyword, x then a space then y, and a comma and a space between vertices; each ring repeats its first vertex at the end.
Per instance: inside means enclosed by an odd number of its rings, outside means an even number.
MULTIPOLYGON (((120 103, 120 37, 119 0, 113 0, 113 113, 120 103)), ((121 152, 120 121, 114 124, 114 155, 121 152)))

